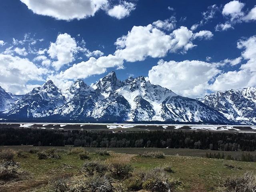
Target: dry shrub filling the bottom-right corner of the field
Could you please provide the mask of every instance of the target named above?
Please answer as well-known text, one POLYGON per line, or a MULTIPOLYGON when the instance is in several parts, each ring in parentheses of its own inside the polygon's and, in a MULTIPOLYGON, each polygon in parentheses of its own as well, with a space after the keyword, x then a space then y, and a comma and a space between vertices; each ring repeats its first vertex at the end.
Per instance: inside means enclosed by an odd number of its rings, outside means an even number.
POLYGON ((224 184, 228 192, 251 192, 255 191, 255 186, 256 175, 252 172, 246 172, 242 177, 228 178, 224 184))

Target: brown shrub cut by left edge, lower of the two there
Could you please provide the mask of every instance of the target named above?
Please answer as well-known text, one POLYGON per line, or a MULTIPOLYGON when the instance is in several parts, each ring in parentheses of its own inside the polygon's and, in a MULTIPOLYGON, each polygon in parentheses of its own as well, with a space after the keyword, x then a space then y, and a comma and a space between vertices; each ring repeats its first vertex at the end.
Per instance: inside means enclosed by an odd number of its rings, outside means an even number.
POLYGON ((14 161, 6 161, 0 164, 0 180, 12 180, 18 178, 19 165, 14 161))

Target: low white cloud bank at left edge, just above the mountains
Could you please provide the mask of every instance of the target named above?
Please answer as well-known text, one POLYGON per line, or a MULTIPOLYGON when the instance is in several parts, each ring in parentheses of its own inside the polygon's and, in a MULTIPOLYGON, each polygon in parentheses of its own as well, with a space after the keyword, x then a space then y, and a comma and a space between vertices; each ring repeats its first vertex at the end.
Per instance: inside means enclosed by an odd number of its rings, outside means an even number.
POLYGON ((28 81, 43 80, 42 75, 47 73, 48 70, 38 68, 27 58, 0 54, 1 86, 8 92, 24 94, 28 81))

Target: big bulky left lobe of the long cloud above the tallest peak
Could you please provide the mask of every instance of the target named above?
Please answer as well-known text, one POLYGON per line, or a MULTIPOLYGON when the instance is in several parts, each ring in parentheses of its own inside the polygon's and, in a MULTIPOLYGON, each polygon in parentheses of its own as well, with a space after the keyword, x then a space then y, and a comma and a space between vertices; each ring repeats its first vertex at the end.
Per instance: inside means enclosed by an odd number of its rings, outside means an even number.
POLYGON ((171 37, 164 32, 148 26, 133 26, 126 36, 115 42, 118 50, 115 55, 129 62, 142 61, 147 56, 163 57, 171 48, 171 37))

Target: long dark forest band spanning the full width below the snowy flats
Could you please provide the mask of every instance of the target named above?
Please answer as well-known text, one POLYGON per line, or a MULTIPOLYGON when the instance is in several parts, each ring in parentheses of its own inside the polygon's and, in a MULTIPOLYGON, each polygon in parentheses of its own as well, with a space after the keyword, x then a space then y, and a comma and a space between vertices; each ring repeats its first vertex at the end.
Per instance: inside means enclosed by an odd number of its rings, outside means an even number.
POLYGON ((254 151, 256 135, 184 131, 80 131, 29 128, 0 129, 0 145, 195 148, 254 151))

